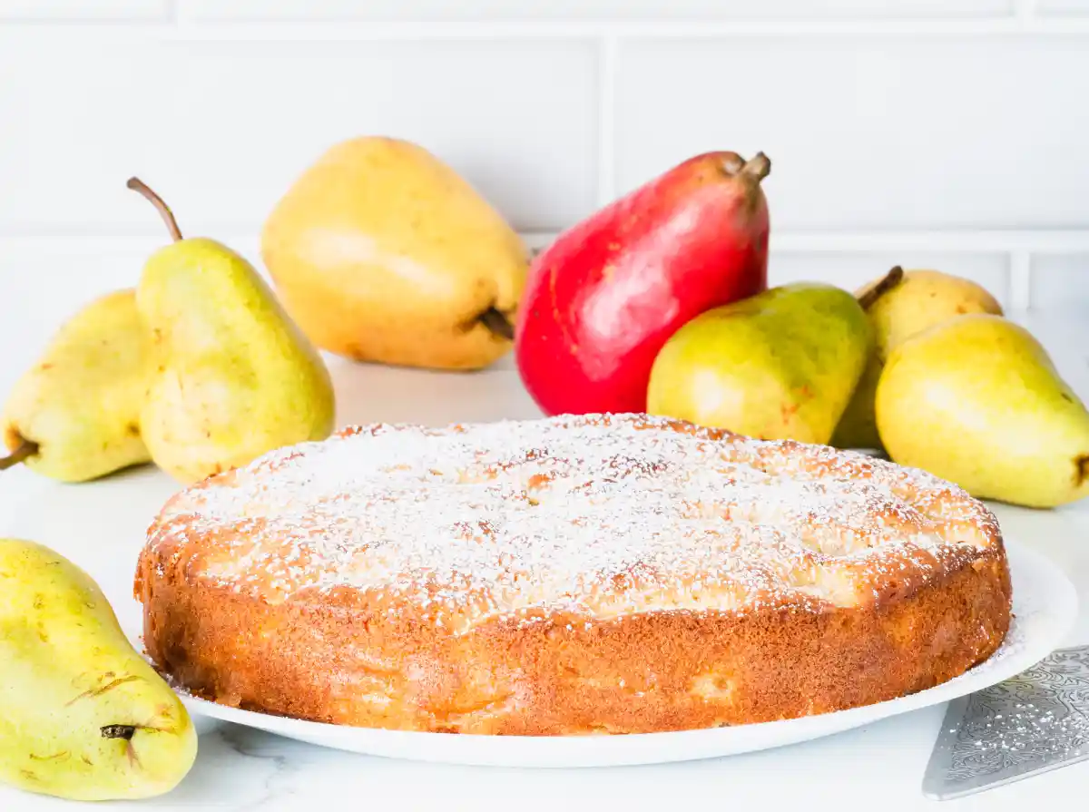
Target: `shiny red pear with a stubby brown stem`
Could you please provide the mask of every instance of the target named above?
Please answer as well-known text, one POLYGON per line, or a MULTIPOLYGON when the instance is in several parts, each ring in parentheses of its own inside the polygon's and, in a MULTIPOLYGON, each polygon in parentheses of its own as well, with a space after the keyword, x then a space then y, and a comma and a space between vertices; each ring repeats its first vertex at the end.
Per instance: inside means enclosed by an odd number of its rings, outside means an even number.
POLYGON ((537 256, 515 359, 547 415, 645 411, 666 340, 768 286, 762 152, 689 158, 561 234, 537 256))

